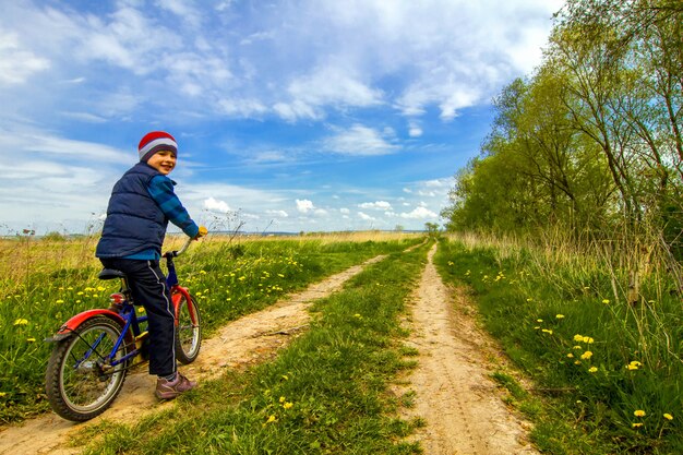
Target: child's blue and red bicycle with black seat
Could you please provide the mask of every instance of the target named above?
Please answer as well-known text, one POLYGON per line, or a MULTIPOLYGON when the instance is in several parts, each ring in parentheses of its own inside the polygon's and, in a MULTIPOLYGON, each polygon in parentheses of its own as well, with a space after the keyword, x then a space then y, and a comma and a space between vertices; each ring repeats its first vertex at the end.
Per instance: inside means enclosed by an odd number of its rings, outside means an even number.
MULTIPOLYGON (((196 300, 180 286, 173 264, 173 258, 184 253, 191 241, 164 254, 176 314, 176 358, 183 364, 196 359, 202 344, 196 300)), ((79 313, 46 339, 56 344, 45 374, 48 400, 57 415, 75 422, 107 410, 121 392, 128 371, 148 359, 147 316, 136 314, 125 274, 105 268, 98 277, 121 279, 119 292, 110 296, 109 309, 79 313)))

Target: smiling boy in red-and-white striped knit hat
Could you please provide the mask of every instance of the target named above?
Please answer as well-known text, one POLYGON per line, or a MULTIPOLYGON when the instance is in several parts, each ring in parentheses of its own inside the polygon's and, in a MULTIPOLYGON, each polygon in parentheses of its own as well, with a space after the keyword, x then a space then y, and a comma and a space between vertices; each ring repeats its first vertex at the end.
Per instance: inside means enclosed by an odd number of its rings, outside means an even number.
POLYGON ((164 131, 153 131, 140 141, 140 163, 113 185, 107 219, 95 255, 107 268, 128 275, 136 304, 148 316, 149 374, 157 375, 155 395, 172 399, 196 386, 180 374, 176 364, 173 307, 159 267, 161 244, 170 220, 194 239, 206 235, 173 192, 167 176, 176 167, 178 144, 164 131))

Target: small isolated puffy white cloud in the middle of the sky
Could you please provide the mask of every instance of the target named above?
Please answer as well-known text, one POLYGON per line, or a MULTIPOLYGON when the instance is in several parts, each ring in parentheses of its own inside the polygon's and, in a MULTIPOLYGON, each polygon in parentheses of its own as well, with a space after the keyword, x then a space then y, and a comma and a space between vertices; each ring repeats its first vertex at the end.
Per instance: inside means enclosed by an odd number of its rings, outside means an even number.
POLYGON ((398 149, 376 130, 362 124, 355 124, 328 137, 323 147, 329 152, 356 156, 386 155, 398 149))

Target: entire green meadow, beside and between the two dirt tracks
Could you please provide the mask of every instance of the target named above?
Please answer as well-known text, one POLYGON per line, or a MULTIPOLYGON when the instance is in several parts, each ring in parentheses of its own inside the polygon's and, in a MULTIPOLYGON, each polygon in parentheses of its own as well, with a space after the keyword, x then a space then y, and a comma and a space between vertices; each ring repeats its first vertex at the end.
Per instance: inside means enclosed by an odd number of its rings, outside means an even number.
MULTIPOLYGON (((71 444, 86 454, 422 453, 406 438, 424 421, 398 417, 420 391, 397 396, 391 386, 419 361, 400 320, 434 242, 394 234, 193 244, 177 265, 200 301, 206 337, 289 291, 387 256, 317 300, 309 328, 277 358, 227 369, 135 422, 105 414, 71 444)), ((116 290, 97 282, 88 241, 2 243, 4 258, 31 264, 3 264, 15 274, 0 301, 3 423, 48 411, 50 346, 43 338, 69 315, 107 304, 116 290)), ((466 290, 510 360, 495 363, 491 378, 534 423, 529 436, 542 453, 683 453, 683 309, 666 270, 643 274, 640 298, 630 302, 630 267, 598 249, 472 236, 438 241, 444 282, 466 290)))

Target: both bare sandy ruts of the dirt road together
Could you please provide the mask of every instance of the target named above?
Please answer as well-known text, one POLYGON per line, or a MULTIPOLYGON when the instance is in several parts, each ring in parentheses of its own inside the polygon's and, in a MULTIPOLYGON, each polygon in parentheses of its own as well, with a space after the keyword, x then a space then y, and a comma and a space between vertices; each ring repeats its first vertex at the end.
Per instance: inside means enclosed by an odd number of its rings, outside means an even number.
MULTIPOLYGON (((523 443, 522 424, 505 408, 487 378, 483 335, 476 331, 471 318, 453 311, 452 297, 431 262, 434 251, 430 251, 411 307, 410 343, 420 356, 419 367, 410 376, 410 387, 417 392, 416 406, 406 417, 418 415, 427 421, 416 438, 422 441, 428 455, 535 453, 523 443)), ((314 300, 340 289, 363 266, 382 259, 378 256, 350 267, 264 311, 228 324, 204 340, 199 359, 181 370, 202 381, 217 376, 226 368, 263 361, 291 339, 292 333, 305 330, 307 310, 314 300)), ((456 302, 462 304, 462 298, 456 298, 456 302)), ((159 404, 153 388, 152 376, 144 371, 135 372, 128 376, 123 391, 100 418, 75 424, 47 415, 22 426, 1 428, 0 455, 77 454, 79 447, 67 446, 72 432, 96 424, 103 418, 132 420, 146 411, 173 406, 172 402, 159 404)))

